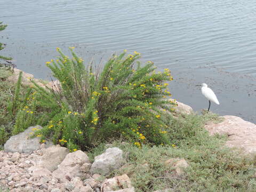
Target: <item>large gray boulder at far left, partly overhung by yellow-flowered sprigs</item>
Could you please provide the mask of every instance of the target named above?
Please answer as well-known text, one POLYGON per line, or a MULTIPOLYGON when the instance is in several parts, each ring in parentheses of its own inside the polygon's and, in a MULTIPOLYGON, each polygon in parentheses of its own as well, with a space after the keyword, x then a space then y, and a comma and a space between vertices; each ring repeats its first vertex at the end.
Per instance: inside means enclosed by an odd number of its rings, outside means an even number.
MULTIPOLYGON (((30 136, 36 131, 42 129, 42 126, 36 125, 28 127, 24 132, 17 135, 13 135, 4 144, 4 151, 6 152, 18 152, 18 153, 30 153, 34 150, 40 149, 40 138, 30 138, 30 136)), ((52 146, 51 141, 47 141, 45 147, 52 146)))

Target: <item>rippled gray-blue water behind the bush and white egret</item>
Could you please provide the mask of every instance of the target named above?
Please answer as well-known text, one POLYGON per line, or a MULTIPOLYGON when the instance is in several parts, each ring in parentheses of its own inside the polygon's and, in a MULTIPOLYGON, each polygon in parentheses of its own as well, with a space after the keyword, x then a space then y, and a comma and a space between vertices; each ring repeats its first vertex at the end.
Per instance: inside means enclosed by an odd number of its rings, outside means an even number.
MULTIPOLYGON (((3 55, 19 69, 49 79, 45 61, 55 47, 87 61, 138 51, 141 61, 170 68, 173 97, 195 110, 207 108, 198 83, 217 94, 220 115, 256 123, 256 1, 251 0, 0 0, 3 55)), ((199 112, 198 112, 199 113, 199 112)))

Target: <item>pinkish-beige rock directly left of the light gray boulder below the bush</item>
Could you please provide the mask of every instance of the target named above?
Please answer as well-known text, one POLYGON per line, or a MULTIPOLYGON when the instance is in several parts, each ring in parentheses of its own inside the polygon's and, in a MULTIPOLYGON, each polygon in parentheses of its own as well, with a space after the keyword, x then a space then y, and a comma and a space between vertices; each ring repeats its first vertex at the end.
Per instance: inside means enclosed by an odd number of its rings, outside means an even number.
POLYGON ((53 171, 55 178, 61 179, 68 177, 70 179, 82 176, 82 165, 90 163, 89 157, 81 150, 69 153, 58 166, 58 169, 53 171))

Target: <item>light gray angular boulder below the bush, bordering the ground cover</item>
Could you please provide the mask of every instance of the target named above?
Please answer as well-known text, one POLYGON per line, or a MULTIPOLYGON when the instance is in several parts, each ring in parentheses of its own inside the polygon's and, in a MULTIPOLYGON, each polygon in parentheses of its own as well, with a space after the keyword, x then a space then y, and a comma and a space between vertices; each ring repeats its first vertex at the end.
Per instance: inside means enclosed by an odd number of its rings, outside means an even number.
POLYGON ((110 171, 118 169, 124 162, 123 151, 117 147, 108 148, 105 153, 94 158, 90 171, 107 175, 110 171))

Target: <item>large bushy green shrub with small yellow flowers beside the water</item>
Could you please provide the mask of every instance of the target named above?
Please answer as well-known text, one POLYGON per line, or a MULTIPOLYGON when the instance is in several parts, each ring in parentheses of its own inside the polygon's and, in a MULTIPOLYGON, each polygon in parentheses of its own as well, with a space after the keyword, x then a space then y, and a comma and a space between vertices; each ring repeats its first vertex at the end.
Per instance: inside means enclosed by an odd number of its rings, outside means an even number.
POLYGON ((59 48, 60 57, 46 62, 60 82, 58 91, 44 89, 35 82, 37 105, 49 111, 40 122, 47 123, 42 140, 51 138, 71 150, 87 149, 103 140, 122 138, 140 147, 141 143, 167 144, 166 110, 175 105, 167 83, 169 69, 155 72, 153 62, 135 62, 140 53, 113 55, 102 71, 85 66, 70 47, 72 59, 59 48))

